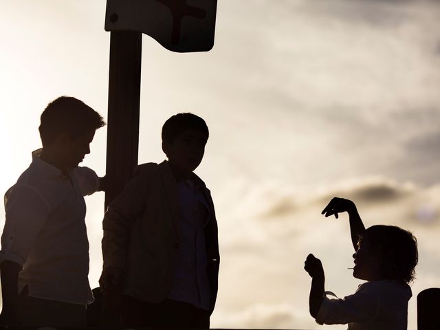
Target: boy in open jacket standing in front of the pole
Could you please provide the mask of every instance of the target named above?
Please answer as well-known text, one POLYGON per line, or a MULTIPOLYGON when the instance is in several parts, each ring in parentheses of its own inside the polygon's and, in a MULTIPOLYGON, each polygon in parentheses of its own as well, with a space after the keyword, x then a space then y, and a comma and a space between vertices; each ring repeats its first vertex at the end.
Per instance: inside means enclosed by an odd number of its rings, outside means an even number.
POLYGON ((162 127, 168 162, 137 166, 104 215, 100 286, 122 279, 125 327, 205 328, 217 297, 219 246, 210 191, 193 171, 208 126, 179 113, 162 127))

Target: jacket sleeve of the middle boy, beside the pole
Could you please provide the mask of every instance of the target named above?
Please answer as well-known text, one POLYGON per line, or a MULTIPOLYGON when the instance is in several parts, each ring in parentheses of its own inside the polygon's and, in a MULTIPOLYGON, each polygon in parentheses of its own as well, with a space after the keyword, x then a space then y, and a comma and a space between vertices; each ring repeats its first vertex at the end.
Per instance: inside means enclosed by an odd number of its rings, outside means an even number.
POLYGON ((124 269, 131 225, 146 206, 147 183, 146 175, 137 171, 122 193, 109 204, 102 221, 104 269, 107 267, 124 269))

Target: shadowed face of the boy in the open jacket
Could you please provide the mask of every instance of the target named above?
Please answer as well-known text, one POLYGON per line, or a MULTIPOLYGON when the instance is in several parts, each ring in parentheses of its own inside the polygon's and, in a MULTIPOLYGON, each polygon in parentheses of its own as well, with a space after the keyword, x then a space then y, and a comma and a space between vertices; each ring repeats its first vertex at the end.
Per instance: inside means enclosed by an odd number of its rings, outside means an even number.
POLYGON ((162 149, 179 175, 189 175, 201 163, 207 140, 204 133, 186 129, 173 142, 164 141, 162 149))

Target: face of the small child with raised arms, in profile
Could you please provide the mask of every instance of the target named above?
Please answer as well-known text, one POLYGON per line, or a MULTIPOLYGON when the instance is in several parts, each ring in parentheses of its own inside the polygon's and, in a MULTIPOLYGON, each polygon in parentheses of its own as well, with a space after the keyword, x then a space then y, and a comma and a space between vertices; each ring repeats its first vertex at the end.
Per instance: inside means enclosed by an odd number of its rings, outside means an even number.
POLYGON ((353 254, 355 267, 353 267, 353 276, 365 281, 378 281, 382 279, 380 272, 379 259, 373 252, 368 239, 362 239, 358 251, 353 254))

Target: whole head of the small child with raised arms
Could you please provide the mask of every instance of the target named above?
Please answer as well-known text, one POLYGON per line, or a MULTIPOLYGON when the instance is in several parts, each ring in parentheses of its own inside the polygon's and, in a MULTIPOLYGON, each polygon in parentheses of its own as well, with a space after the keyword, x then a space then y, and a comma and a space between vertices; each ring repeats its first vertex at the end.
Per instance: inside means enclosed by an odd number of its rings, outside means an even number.
POLYGON ((411 232, 393 225, 373 225, 358 241, 359 250, 353 255, 353 276, 365 278, 376 272, 382 279, 410 283, 415 278, 419 256, 417 239, 411 232))

